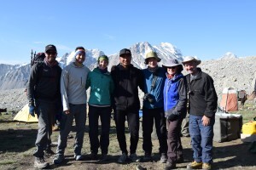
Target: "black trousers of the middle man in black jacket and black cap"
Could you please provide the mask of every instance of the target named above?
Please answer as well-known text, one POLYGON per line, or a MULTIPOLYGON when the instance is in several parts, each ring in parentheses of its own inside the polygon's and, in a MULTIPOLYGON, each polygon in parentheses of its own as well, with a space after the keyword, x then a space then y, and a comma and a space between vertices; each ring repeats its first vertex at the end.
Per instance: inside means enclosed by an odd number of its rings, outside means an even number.
POLYGON ((130 130, 130 153, 134 154, 137 150, 138 131, 139 131, 139 111, 115 111, 115 124, 117 139, 122 153, 128 154, 125 139, 125 118, 127 116, 128 127, 130 130))

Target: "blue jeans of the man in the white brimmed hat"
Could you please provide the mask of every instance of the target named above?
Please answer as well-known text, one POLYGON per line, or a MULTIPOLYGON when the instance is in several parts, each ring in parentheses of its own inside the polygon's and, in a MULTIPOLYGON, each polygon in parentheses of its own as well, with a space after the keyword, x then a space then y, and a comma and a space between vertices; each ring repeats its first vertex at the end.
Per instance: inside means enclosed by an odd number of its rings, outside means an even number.
POLYGON ((203 126, 202 116, 189 116, 189 133, 191 145, 194 150, 193 158, 197 162, 212 163, 212 139, 214 117, 211 118, 210 125, 203 126))

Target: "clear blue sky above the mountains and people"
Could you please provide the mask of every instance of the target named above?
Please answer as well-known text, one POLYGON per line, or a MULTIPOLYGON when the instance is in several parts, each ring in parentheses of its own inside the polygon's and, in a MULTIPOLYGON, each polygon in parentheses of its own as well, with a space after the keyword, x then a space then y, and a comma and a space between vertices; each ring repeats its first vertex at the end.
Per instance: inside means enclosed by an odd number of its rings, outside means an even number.
POLYGON ((137 42, 170 42, 202 60, 255 56, 254 0, 9 0, 1 2, 0 63, 28 63, 55 44, 115 54, 137 42))

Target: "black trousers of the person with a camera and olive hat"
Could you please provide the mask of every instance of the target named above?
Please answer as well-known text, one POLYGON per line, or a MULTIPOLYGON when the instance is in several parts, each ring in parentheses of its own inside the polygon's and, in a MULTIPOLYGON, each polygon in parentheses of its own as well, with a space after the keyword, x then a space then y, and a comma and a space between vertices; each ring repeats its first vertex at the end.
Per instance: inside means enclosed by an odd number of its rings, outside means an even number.
POLYGON ((143 150, 152 153, 151 133, 153 132, 153 125, 160 144, 160 153, 167 152, 167 137, 166 137, 166 117, 164 108, 146 109, 143 108, 143 150))

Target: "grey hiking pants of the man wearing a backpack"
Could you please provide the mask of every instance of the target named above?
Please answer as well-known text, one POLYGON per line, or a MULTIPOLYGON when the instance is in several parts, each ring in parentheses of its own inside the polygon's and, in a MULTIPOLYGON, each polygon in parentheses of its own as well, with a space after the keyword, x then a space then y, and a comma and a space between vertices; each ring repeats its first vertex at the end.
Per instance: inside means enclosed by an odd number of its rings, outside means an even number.
POLYGON ((50 135, 52 133, 52 117, 55 115, 55 103, 36 100, 36 113, 38 115, 38 136, 33 156, 43 157, 44 150, 51 143, 50 135))

